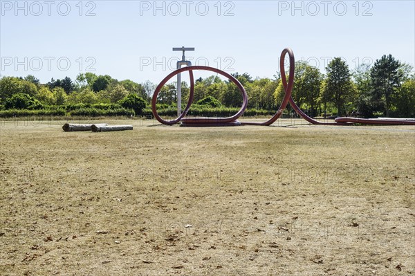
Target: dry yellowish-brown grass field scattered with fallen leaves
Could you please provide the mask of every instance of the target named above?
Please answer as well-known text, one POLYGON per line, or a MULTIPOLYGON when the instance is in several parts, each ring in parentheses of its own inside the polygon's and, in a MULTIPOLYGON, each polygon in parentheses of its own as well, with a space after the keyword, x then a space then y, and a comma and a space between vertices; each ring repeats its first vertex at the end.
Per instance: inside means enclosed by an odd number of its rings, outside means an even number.
POLYGON ((414 127, 105 122, 0 122, 0 275, 415 274, 414 127))

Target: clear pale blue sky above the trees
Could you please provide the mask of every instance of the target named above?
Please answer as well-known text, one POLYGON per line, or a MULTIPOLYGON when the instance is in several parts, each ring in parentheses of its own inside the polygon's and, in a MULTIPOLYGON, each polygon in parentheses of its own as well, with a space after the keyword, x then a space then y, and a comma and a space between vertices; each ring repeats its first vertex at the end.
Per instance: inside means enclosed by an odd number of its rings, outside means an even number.
POLYGON ((285 47, 322 73, 339 56, 351 69, 389 53, 415 63, 414 1, 0 3, 0 74, 41 82, 91 71, 158 83, 179 46, 196 48, 193 64, 253 77, 273 77, 285 47))

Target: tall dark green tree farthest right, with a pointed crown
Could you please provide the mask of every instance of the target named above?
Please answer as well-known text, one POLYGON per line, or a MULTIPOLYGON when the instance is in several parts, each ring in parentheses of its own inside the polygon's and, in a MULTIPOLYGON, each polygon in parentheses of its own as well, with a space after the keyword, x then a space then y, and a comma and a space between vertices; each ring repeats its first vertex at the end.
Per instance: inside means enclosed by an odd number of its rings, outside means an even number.
POLYGON ((383 103, 387 117, 391 109, 391 100, 403 77, 399 68, 400 62, 389 54, 376 59, 370 70, 373 98, 383 103))

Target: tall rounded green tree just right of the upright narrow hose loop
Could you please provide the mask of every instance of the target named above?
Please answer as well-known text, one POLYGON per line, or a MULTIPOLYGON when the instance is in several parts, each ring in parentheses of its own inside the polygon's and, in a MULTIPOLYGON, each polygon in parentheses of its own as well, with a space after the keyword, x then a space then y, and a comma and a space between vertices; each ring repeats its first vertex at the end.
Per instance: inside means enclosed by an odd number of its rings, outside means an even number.
POLYGON ((323 98, 335 104, 338 116, 344 116, 344 104, 353 98, 354 93, 349 66, 340 57, 335 57, 327 65, 326 72, 323 98))

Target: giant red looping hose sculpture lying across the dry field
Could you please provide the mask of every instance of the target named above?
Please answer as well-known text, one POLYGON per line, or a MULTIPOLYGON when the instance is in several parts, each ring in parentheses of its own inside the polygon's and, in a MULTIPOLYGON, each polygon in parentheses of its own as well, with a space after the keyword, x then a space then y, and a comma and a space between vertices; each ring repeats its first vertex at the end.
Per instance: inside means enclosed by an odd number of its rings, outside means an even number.
POLYGON ((350 117, 342 117, 342 118, 336 118, 335 122, 320 122, 317 120, 314 120, 310 116, 308 116, 306 113, 304 113, 297 104, 295 104, 293 97, 291 96, 292 90, 293 90, 293 84, 294 84, 294 53, 291 48, 285 48, 281 53, 281 58, 279 59, 279 68, 281 71, 281 80, 282 84, 284 86, 284 99, 282 100, 281 105, 279 106, 279 109, 277 113, 273 117, 271 117, 266 122, 239 122, 237 119, 243 114, 243 112, 246 110, 246 107, 248 106, 248 95, 246 95, 246 91, 243 88, 242 84, 232 75, 225 73, 224 71, 221 71, 216 68, 212 68, 209 66, 187 66, 180 69, 177 69, 176 71, 170 73, 165 77, 160 84, 156 87, 156 91, 154 91, 153 99, 151 100, 151 109, 153 111, 154 117, 158 120, 158 122, 161 122, 164 125, 174 125, 177 122, 181 122, 184 126, 189 127, 218 127, 218 126, 228 126, 228 125, 265 125, 269 126, 272 125, 273 122, 278 120, 278 118, 282 115, 284 109, 286 109, 286 106, 288 102, 291 104, 291 107, 297 112, 299 116, 304 118, 307 122, 310 122, 313 125, 352 125, 353 123, 361 123, 366 125, 415 125, 415 120, 398 120, 398 119, 364 119, 364 118, 350 118, 350 117), (290 69, 288 73, 288 82, 286 80, 286 73, 284 69, 284 58, 286 54, 288 53, 288 57, 290 60, 290 69), (214 73, 218 73, 223 75, 224 77, 228 77, 229 80, 231 80, 241 91, 242 93, 242 106, 239 111, 234 114, 234 116, 225 117, 225 118, 185 118, 187 112, 190 109, 190 106, 192 105, 193 99, 194 99, 194 77, 193 77, 193 71, 194 70, 206 70, 206 71, 212 71, 214 73), (189 71, 190 75, 190 95, 189 95, 189 101, 187 102, 187 105, 181 113, 178 118, 174 120, 164 120, 163 118, 160 118, 160 116, 157 113, 156 109, 156 102, 157 102, 157 96, 158 93, 160 93, 161 88, 163 85, 165 85, 174 75, 177 75, 178 73, 182 73, 185 71, 189 71))

